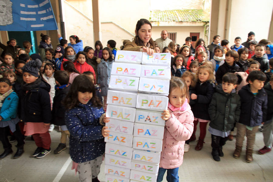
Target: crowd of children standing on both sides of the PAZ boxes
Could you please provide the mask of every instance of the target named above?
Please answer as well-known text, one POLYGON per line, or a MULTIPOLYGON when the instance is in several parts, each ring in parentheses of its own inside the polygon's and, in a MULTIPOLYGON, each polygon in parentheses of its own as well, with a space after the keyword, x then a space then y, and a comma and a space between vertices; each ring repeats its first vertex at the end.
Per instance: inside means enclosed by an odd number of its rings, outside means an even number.
MULTIPOLYGON (((258 43, 253 35, 250 32, 244 43, 236 37, 231 47, 219 35, 207 47, 203 39, 197 40, 195 49, 190 37, 183 46, 170 42, 162 51, 154 42, 154 52, 171 53, 173 76, 168 110, 162 113, 162 119, 166 120, 163 147, 169 150, 162 151, 157 181, 162 181, 166 170, 168 181, 178 181, 183 153, 189 151, 189 143, 197 137, 195 150, 202 150, 208 123, 215 161, 224 156, 222 147, 233 139, 234 127, 237 128, 234 158, 240 157, 246 135, 245 160, 253 161, 255 133, 261 124, 265 147, 258 153, 271 151, 273 45, 265 45, 266 40, 258 43)), ((32 157, 45 157, 51 152, 49 132, 59 126, 60 143, 54 153, 67 148, 68 137, 69 153, 79 179, 99 181, 105 150, 103 138, 109 134, 104 126, 109 119, 104 113, 116 42, 109 40, 103 48, 96 41, 93 49, 83 48, 83 41, 76 35, 69 37, 70 43, 58 37, 60 45, 53 49, 50 37, 41 34, 39 54, 32 54, 28 41, 24 43, 25 49, 20 49, 15 39, 7 46, 0 44, 5 52, 0 65, 3 77, 0 78, 0 139, 4 148, 0 159, 12 153, 10 142, 15 140, 17 152, 13 158, 20 157, 24 153, 24 139, 29 135, 37 146, 32 157)))

